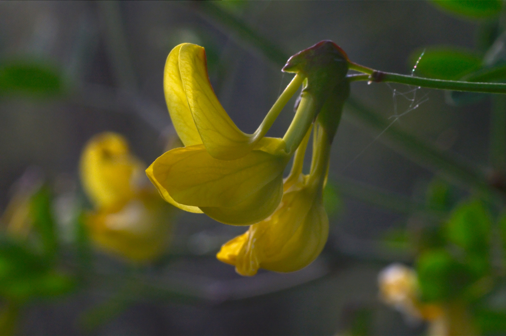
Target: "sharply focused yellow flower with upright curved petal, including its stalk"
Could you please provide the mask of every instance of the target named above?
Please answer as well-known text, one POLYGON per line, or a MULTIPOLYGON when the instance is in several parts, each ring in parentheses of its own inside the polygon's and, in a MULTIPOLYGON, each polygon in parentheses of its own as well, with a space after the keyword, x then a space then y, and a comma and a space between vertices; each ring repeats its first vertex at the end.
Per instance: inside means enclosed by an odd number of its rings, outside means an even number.
POLYGON ((164 91, 185 147, 166 152, 146 170, 163 199, 232 225, 249 225, 272 214, 281 201, 282 174, 291 153, 283 139, 264 135, 302 79, 296 76, 257 131, 246 134, 209 83, 203 47, 176 46, 165 64, 164 91))

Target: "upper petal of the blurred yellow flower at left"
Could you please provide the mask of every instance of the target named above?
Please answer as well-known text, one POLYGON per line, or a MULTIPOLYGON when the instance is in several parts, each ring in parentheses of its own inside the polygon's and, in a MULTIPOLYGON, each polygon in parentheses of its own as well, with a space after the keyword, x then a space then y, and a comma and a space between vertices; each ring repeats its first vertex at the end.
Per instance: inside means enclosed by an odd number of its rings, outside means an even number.
POLYGON ((133 179, 144 168, 130 154, 126 139, 113 132, 91 138, 79 165, 82 187, 97 208, 118 208, 131 200, 133 179))

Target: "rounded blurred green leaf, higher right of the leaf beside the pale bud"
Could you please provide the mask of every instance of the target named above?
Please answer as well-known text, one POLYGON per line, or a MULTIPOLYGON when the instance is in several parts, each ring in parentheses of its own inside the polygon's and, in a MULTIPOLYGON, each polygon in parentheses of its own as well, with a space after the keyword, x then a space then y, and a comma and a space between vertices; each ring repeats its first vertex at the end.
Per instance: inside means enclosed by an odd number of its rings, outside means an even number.
POLYGON ((459 205, 446 224, 448 240, 467 252, 487 254, 490 215, 480 201, 459 205))

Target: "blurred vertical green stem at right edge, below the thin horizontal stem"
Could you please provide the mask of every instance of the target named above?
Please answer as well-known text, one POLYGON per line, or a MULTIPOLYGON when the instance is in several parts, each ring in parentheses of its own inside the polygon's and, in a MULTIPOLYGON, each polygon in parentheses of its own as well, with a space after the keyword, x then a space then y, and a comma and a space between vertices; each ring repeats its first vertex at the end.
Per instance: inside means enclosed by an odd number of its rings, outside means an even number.
POLYGON ((506 167, 506 97, 492 97, 490 116, 490 164, 494 169, 503 171, 506 167))

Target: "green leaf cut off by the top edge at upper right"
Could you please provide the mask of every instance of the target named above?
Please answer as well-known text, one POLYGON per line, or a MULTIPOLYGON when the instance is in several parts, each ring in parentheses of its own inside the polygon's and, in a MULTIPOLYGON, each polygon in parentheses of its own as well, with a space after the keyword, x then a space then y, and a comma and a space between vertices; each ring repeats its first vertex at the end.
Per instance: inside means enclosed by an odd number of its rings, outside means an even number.
POLYGON ((498 16, 502 2, 499 0, 432 0, 445 12, 469 19, 487 19, 498 16))

